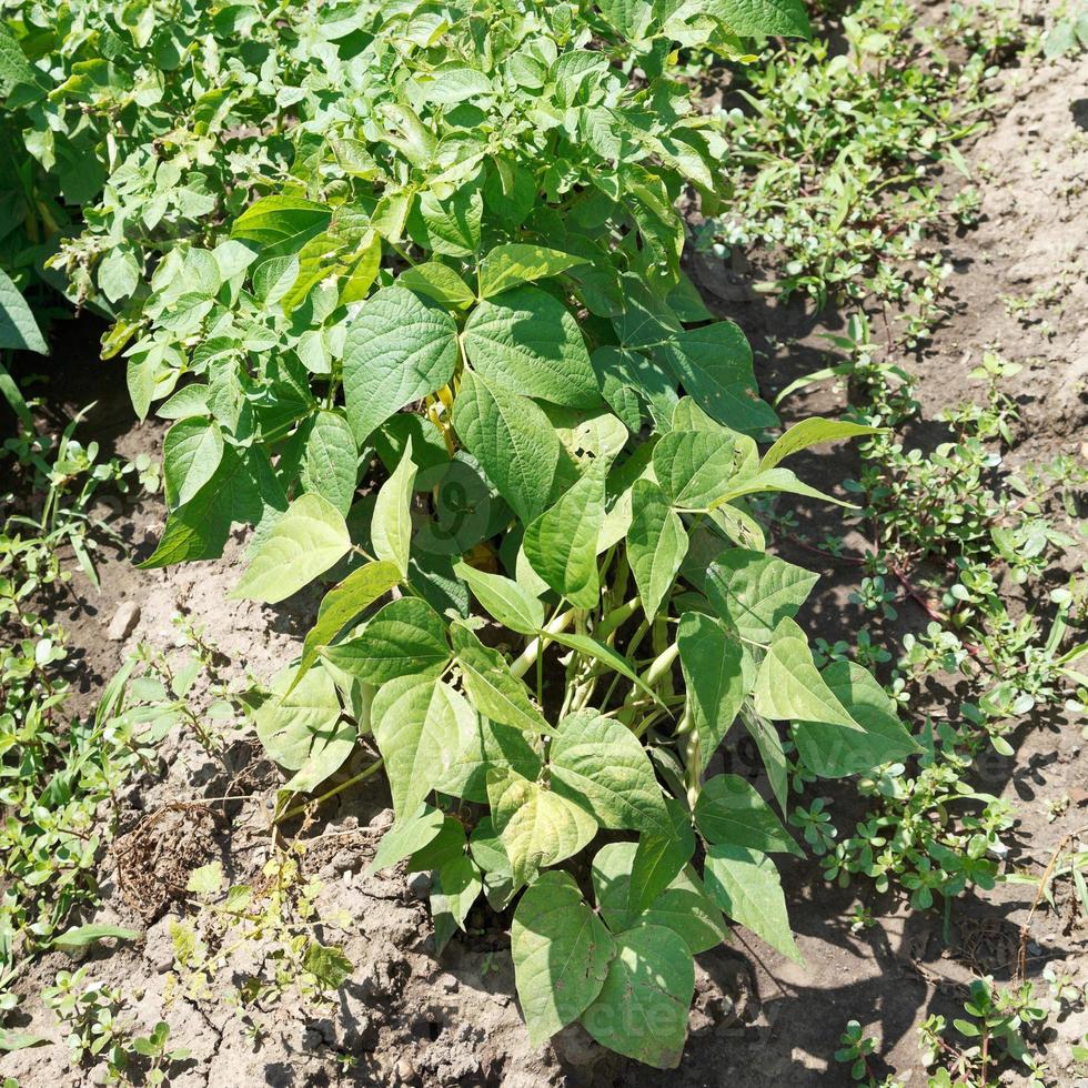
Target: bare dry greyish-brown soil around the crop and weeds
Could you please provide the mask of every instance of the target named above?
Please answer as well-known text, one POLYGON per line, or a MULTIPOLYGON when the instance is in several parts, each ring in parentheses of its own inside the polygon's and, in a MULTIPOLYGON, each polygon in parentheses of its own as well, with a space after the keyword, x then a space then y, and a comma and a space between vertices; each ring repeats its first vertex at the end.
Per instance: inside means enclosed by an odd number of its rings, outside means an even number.
MULTIPOLYGON (((954 308, 911 365, 920 377, 926 421, 931 422, 945 406, 977 395, 967 372, 984 344, 999 342, 1006 357, 1027 363, 1014 379, 1024 423, 1013 462, 1059 452, 1084 457, 1088 58, 1011 69, 1000 80, 1007 109, 968 152, 983 179, 985 219, 977 230, 940 243, 956 269, 954 308), (1003 302, 1003 296, 1037 292, 1041 301, 1027 311, 1021 308, 1019 315, 1003 302)), ((820 334, 840 329, 838 314, 813 314, 802 303, 768 305, 744 290, 743 275, 705 265, 693 271, 708 303, 739 321, 757 346, 766 346, 772 331, 779 339, 797 338, 788 349, 766 352, 760 372, 765 393, 826 365, 820 334)), ((87 345, 75 345, 73 352, 80 360, 90 354, 87 345)), ((94 433, 115 440, 119 452, 129 456, 158 453, 163 427, 153 422, 133 425, 115 366, 82 362, 72 366, 71 377, 63 397, 68 409, 78 406, 83 393, 85 400, 99 397, 89 424, 94 433)), ((789 404, 797 416, 835 414, 842 407, 837 394, 826 390, 796 396, 789 404)), ((939 434, 939 427, 933 433, 939 434)), ((905 440, 930 441, 925 425, 905 440)), ((832 457, 809 459, 805 469, 810 476, 830 480, 855 474, 848 449, 832 457)), ((276 608, 226 598, 240 572, 241 534, 222 561, 141 572, 133 561, 153 547, 164 517, 161 503, 149 500, 109 513, 128 541, 129 554, 107 556, 101 593, 79 586, 79 598, 59 613, 79 661, 80 709, 93 705, 104 681, 138 642, 171 648, 178 613, 208 626, 221 652, 216 671, 236 685, 248 674, 268 678, 298 653, 314 614, 312 595, 276 608), (125 643, 108 642, 110 619, 128 600, 140 607, 139 623, 125 643)), ((813 556, 788 557, 813 565, 813 556)), ((846 602, 856 571, 828 567, 822 573, 809 618, 820 634, 834 638, 860 623, 846 602)), ((909 602, 901 611, 908 629, 924 625, 926 617, 911 614, 909 602)), ((171 1044, 192 1051, 171 1078, 178 1088, 845 1085, 845 1067, 833 1055, 850 1018, 875 1031, 879 1052, 901 1080, 924 1084, 917 1025, 930 1013, 957 1015, 974 974, 1011 977, 1019 927, 1034 898, 1034 888, 1026 885, 967 896, 956 904, 951 940, 945 945, 939 914, 896 907, 865 886, 830 887, 815 862, 790 859, 784 885, 806 966, 783 959, 741 931, 731 945, 701 956, 691 1038, 679 1069, 659 1072, 628 1062, 580 1028, 564 1030, 534 1051, 513 996, 508 918, 477 909, 470 919, 471 934, 454 937, 436 958, 425 882, 416 877, 410 883, 400 870, 362 876, 391 816, 384 785, 371 779, 324 806, 320 820, 303 833, 311 844, 304 869, 325 883, 322 905, 343 909, 352 919, 346 934, 328 935, 354 965, 350 980, 325 1004, 288 998, 240 1008, 225 998, 253 968, 252 957, 260 956, 260 950, 248 951, 250 961, 231 964, 221 974, 220 991, 190 1000, 167 993, 169 925, 187 909, 188 875, 218 858, 232 883, 259 883, 272 850, 269 812, 281 780, 242 723, 219 728, 226 743, 213 755, 191 733, 175 733, 164 742, 154 773, 137 778, 120 798, 121 835, 102 863, 104 905, 94 920, 129 925, 145 936, 134 945, 100 946, 90 954, 93 977, 134 997, 143 1028, 167 1019, 171 1044), (224 797, 231 799, 214 799, 224 797), (872 906, 877 924, 854 934, 849 910, 857 900, 872 906), (355 1064, 346 1067, 340 1060, 345 1057, 355 1064)), ((1076 803, 1048 818, 1049 802, 1088 784, 1080 728, 1058 718, 1025 722, 1015 758, 995 756, 976 768, 983 788, 1016 805, 1019 823, 1010 865, 1017 869, 1040 873, 1061 837, 1088 823, 1088 808, 1076 803)), ((857 809, 850 789, 846 784, 827 790, 843 827, 848 826, 847 814, 857 809)), ((1088 975, 1082 920, 1037 915, 1029 951, 1032 975, 1050 960, 1064 961, 1081 981, 1088 975)), ((68 966, 67 956, 47 956, 22 980, 28 1027, 57 1038, 56 1044, 0 1058, 0 1075, 17 1077, 23 1088, 92 1084, 99 1077, 98 1070, 71 1069, 67 1046, 38 997, 41 986, 68 966)), ((1070 1041, 1086 1031, 1084 1013, 1058 1022, 1052 1052, 1067 1055, 1070 1041)), ((1060 1082, 1074 1082, 1070 1069, 1056 1069, 1059 1079, 1067 1078, 1060 1082)))

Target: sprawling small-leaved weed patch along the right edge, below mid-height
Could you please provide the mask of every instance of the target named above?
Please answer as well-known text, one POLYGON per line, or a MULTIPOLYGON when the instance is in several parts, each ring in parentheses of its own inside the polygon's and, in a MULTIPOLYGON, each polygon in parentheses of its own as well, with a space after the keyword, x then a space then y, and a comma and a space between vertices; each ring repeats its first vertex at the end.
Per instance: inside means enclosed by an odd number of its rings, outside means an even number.
MULTIPOLYGON (((847 380, 859 420, 898 426, 917 416, 909 376, 882 360, 864 319, 852 319, 836 345, 848 354, 833 376, 847 380)), ((1084 625, 1086 580, 1038 587, 1076 542, 1088 472, 1065 456, 1015 472, 1006 466, 1018 413, 1003 383, 1018 370, 986 350, 970 371, 983 394, 943 414, 951 440, 930 453, 889 434, 865 440, 860 474, 846 486, 873 548, 852 556, 817 547, 864 572, 850 600, 876 623, 904 607, 928 616, 920 633, 903 638, 887 687, 895 702, 917 705, 927 681, 947 675, 966 681, 967 695, 947 721, 938 707, 941 718, 916 734, 924 753, 916 767, 894 763, 863 775, 860 792, 875 805, 826 850, 825 876, 847 884, 865 875, 882 891, 899 887, 918 909, 940 901, 946 919, 951 897, 1001 878, 1008 853, 1001 835, 1011 812, 971 784, 980 763, 990 750, 1011 755, 1008 735, 1031 712, 1081 708, 1077 662, 1086 648, 1069 644, 1084 625), (1015 615, 1008 586, 1021 587, 1028 602, 1015 615)), ((800 540, 785 520, 777 528, 800 540)), ((820 648, 834 659, 874 664, 867 629, 856 646, 820 648)))

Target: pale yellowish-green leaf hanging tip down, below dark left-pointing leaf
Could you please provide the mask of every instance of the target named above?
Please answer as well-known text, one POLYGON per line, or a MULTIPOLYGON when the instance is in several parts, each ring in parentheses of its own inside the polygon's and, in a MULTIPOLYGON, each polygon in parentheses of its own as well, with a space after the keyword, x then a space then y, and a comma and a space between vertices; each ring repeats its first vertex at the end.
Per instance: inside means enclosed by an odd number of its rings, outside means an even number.
POLYGON ((371 719, 397 819, 419 809, 476 727, 463 696, 430 676, 391 681, 374 696, 371 719))

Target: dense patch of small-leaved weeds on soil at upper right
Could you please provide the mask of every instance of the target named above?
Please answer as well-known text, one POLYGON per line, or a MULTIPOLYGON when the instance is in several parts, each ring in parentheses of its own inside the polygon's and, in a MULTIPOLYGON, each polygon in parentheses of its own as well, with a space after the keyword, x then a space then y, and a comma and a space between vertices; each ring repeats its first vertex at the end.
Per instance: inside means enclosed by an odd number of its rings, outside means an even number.
POLYGON ((845 52, 817 38, 738 72, 737 105, 718 115, 733 200, 702 249, 766 251, 784 272, 759 289, 784 298, 895 310, 889 347, 928 338, 951 269, 927 236, 979 214, 976 189, 946 197, 935 175, 968 173, 956 145, 985 125, 994 63, 1025 44, 1015 6, 954 7, 927 26, 906 0, 863 0, 842 17, 845 52))

